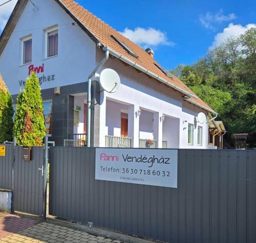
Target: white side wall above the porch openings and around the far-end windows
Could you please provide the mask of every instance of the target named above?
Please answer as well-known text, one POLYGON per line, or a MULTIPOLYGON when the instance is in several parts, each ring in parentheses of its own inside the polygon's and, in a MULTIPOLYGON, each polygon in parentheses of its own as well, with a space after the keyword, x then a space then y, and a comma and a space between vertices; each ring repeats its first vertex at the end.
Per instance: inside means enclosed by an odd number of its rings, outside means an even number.
MULTIPOLYGON (((97 52, 100 60, 103 57, 102 53, 97 52)), ((104 64, 103 68, 113 68, 115 69, 121 79, 121 85, 117 92, 102 94, 106 98, 111 98, 114 100, 119 100, 128 106, 134 105, 140 109, 150 110, 152 112, 159 112, 159 114, 165 114, 167 116, 172 116, 179 119, 180 129, 179 129, 179 148, 207 148, 206 147, 206 123, 203 125, 203 145, 199 146, 197 144, 197 126, 194 130, 194 144, 187 144, 187 128, 183 130, 183 121, 187 120, 188 123, 195 123, 196 115, 199 112, 207 112, 200 107, 197 107, 188 102, 183 102, 181 93, 174 91, 173 89, 168 89, 164 85, 160 85, 154 79, 148 79, 144 74, 139 74, 133 67, 126 67, 117 59, 109 59, 108 62, 104 64)), ((138 109, 136 108, 136 109, 138 109)), ((135 109, 135 111, 136 111, 135 109)), ((141 119, 141 118, 139 118, 141 119)), ((140 123, 141 124, 141 123, 140 123)), ((103 137, 105 134, 100 134, 103 137)), ((136 135, 139 137, 138 134, 136 135)))

